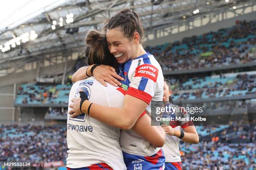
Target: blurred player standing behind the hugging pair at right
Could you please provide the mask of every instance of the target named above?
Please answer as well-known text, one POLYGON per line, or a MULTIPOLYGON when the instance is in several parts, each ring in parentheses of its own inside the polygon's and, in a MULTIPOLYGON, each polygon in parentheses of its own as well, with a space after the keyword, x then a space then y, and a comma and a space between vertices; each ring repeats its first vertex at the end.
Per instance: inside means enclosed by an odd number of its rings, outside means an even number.
MULTIPOLYGON (((168 80, 164 79, 164 101, 169 103, 166 106, 178 107, 172 103, 172 90, 170 89, 171 85, 168 80)), ((170 114, 165 113, 165 117, 189 117, 188 113, 179 111, 173 111, 170 114), (174 112, 174 114, 173 114, 174 112)), ((162 149, 164 150, 165 155, 165 170, 182 170, 181 165, 181 154, 179 153, 179 140, 183 140, 187 143, 198 143, 199 137, 195 126, 192 125, 192 122, 189 121, 174 121, 162 125, 166 133, 166 142, 162 149), (184 132, 183 132, 184 130, 184 132)))

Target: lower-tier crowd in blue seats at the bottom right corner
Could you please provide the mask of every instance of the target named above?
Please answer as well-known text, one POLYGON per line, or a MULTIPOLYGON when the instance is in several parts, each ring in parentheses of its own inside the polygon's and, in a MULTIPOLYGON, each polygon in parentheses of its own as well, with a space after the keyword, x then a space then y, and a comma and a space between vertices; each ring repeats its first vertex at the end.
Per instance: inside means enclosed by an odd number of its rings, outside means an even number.
POLYGON ((197 127, 201 136, 200 143, 187 144, 181 142, 182 167, 186 170, 194 169, 246 169, 256 168, 255 159, 255 126, 219 126, 219 127, 197 127), (214 129, 214 130, 212 130, 214 129), (205 133, 207 131, 207 133, 205 133), (222 131, 222 133, 220 133, 222 131), (219 133, 219 140, 209 141, 207 138, 215 137, 219 133), (233 143, 233 135, 237 133, 251 134, 242 136, 240 143, 233 143), (204 137, 202 137, 204 136, 204 137), (249 139, 249 140, 248 140, 249 139), (193 156, 192 156, 193 155, 193 156))

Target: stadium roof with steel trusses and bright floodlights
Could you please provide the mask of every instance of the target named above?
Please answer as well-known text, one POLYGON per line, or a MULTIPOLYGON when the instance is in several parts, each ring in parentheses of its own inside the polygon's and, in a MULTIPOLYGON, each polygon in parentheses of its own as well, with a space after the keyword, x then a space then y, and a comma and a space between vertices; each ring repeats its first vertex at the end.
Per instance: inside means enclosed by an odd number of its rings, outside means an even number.
POLYGON ((102 21, 125 8, 135 10, 147 33, 152 33, 184 18, 255 4, 255 0, 26 0, 16 5, 17 1, 9 1, 15 12, 1 19, 0 70, 45 60, 47 54, 81 51, 88 30, 101 28, 102 21))

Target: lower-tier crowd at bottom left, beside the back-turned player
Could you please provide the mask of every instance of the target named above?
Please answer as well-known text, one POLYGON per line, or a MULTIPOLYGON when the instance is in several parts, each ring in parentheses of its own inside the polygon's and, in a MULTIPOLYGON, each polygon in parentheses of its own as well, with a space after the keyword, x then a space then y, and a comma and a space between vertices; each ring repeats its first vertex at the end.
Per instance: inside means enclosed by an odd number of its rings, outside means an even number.
POLYGON ((0 161, 52 162, 67 158, 67 128, 0 125, 0 161))

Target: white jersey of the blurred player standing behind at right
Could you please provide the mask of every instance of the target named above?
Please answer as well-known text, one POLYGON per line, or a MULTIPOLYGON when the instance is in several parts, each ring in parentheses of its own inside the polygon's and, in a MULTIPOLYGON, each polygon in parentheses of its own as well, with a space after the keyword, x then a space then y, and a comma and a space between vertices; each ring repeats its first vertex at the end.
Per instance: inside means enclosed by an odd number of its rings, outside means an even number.
MULTIPOLYGON (((165 113, 163 117, 174 117, 174 120, 176 120, 175 117, 189 117, 188 113, 185 112, 184 109, 181 109, 182 107, 173 105, 172 103, 169 103, 167 106, 170 106, 172 111, 169 114, 165 113)), ((165 124, 167 123, 165 122, 165 124)), ((192 125, 192 122, 170 121, 168 125, 171 125, 172 128, 180 131, 182 128, 184 129, 187 128, 189 125, 192 125)), ((181 162, 181 154, 179 153, 179 141, 180 139, 176 136, 166 134, 165 144, 162 147, 166 163, 181 162)))

